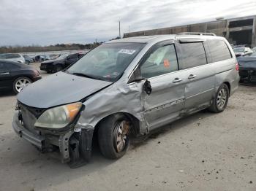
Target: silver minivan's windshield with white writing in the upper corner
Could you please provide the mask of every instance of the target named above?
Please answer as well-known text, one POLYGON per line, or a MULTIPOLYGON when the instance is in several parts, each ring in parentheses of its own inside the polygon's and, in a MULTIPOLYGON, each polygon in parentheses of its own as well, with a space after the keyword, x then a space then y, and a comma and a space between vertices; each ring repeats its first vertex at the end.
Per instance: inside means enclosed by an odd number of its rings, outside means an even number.
POLYGON ((142 43, 102 44, 80 58, 67 73, 115 82, 144 46, 142 43))

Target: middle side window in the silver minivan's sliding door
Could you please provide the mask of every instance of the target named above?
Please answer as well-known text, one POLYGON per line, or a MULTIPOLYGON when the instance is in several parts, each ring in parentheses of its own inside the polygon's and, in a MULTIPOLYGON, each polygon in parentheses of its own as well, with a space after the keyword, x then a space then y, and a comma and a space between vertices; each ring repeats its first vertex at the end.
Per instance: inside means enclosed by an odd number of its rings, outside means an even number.
POLYGON ((180 69, 190 69, 207 63, 203 42, 181 43, 180 45, 181 58, 183 58, 180 69))

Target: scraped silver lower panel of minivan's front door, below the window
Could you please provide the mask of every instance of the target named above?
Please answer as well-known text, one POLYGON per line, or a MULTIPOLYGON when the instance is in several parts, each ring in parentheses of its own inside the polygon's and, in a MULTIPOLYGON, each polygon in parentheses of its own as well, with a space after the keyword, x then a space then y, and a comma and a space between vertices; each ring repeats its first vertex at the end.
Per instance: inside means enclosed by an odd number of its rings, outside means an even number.
POLYGON ((158 128, 179 117, 184 109, 184 90, 188 82, 184 71, 176 71, 148 79, 151 82, 150 95, 143 94, 143 105, 149 129, 158 128), (179 78, 181 82, 174 83, 179 78))

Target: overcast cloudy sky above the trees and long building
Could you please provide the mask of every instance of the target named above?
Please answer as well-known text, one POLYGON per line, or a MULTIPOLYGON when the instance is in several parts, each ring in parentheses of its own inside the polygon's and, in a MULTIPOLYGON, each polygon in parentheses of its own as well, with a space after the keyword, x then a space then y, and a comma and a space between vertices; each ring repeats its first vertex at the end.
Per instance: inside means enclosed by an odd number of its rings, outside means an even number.
POLYGON ((256 0, 0 0, 1 45, 107 41, 152 28, 256 15, 256 0))

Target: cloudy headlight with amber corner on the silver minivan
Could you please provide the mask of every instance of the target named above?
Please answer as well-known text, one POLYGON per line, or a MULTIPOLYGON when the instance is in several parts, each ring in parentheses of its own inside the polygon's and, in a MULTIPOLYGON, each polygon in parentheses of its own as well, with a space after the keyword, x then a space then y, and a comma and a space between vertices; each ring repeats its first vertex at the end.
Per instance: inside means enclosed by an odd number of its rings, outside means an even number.
POLYGON ((81 102, 76 102, 48 109, 42 113, 34 126, 39 128, 64 128, 69 122, 75 119, 81 106, 81 102))

